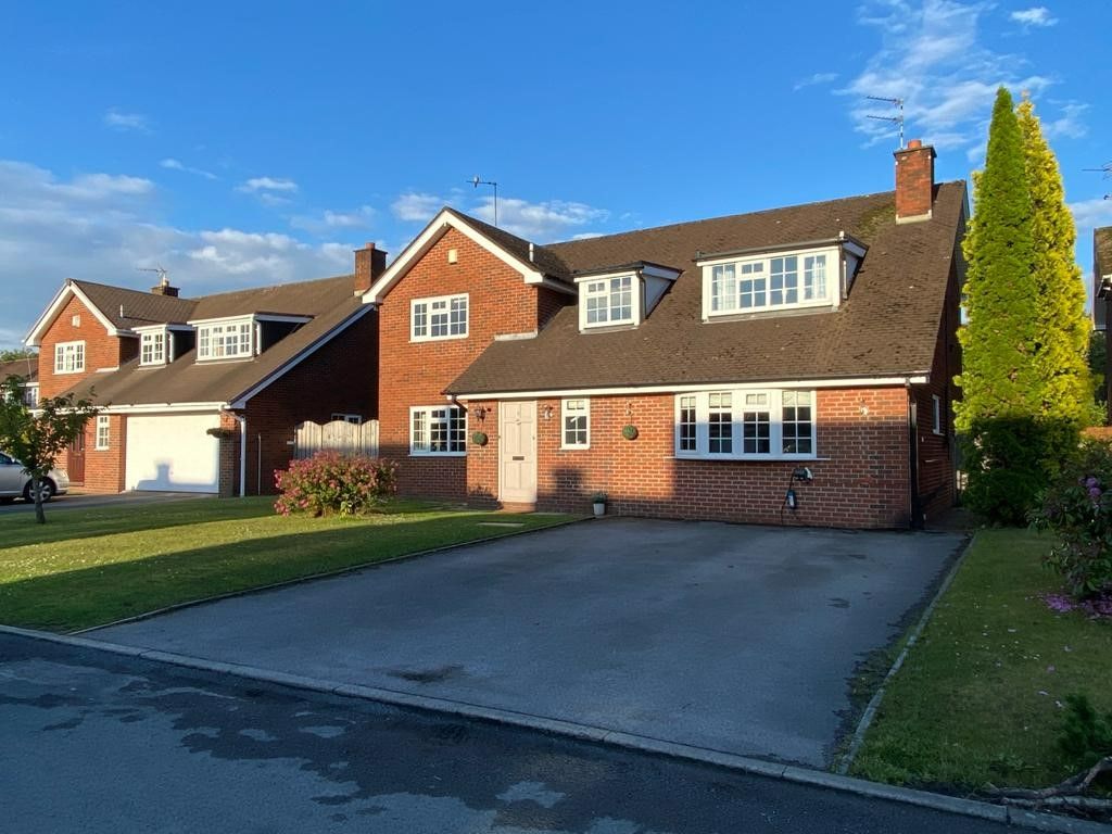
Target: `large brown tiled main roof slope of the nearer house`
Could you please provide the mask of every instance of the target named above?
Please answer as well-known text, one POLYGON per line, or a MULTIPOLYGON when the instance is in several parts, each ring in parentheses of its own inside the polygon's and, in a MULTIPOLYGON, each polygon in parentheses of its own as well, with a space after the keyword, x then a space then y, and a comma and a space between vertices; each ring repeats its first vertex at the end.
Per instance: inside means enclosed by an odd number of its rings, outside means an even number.
POLYGON ((570 271, 653 261, 684 268, 637 328, 580 334, 565 307, 534 339, 493 342, 454 394, 905 376, 929 373, 965 211, 965 183, 935 188, 931 220, 895 222, 892 191, 549 244, 570 271), (702 321, 697 252, 830 240, 868 247, 834 311, 702 321))

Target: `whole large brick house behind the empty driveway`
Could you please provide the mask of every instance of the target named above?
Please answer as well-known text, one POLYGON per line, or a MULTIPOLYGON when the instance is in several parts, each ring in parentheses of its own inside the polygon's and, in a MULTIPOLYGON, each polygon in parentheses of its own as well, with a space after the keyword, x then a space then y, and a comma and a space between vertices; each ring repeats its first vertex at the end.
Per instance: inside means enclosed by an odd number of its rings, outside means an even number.
POLYGON ((364 297, 400 488, 845 527, 950 506, 966 191, 930 147, 895 158, 894 192, 546 246, 441 210, 364 297))

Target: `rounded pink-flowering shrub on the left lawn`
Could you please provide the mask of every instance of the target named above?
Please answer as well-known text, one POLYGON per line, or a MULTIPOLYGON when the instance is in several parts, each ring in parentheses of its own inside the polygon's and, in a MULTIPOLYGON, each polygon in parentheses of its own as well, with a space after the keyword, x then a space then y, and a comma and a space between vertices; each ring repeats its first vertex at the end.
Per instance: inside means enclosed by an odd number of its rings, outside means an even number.
POLYGON ((393 460, 318 451, 311 458, 291 461, 289 469, 275 471, 281 493, 275 509, 284 516, 369 513, 397 492, 397 470, 393 460))

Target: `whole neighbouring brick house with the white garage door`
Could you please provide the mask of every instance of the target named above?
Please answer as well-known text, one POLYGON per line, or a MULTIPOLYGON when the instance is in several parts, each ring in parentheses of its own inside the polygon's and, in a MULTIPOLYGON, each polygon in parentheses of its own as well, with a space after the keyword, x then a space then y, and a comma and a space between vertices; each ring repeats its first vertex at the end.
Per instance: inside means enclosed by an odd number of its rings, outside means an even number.
POLYGON ((42 396, 102 406, 63 461, 107 492, 275 492, 295 427, 377 417, 378 315, 361 295, 386 254, 355 275, 181 298, 67 280, 27 344, 42 396))

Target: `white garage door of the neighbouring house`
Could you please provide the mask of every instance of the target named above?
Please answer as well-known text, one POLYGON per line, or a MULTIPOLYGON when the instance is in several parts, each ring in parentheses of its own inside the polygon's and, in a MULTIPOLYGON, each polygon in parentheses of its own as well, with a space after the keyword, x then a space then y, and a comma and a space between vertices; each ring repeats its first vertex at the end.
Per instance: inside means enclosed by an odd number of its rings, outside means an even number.
POLYGON ((215 414, 128 417, 127 488, 175 493, 219 490, 220 441, 215 414))

